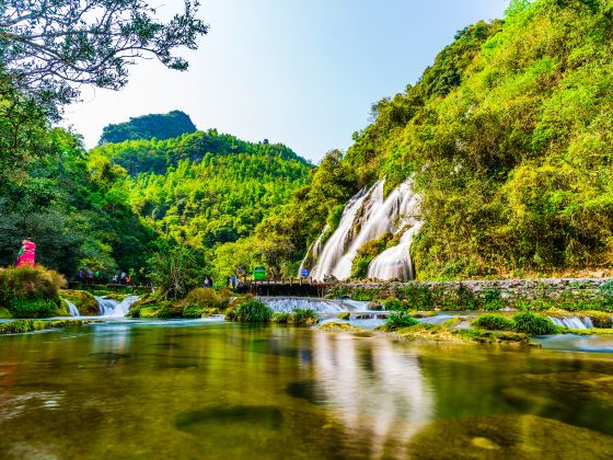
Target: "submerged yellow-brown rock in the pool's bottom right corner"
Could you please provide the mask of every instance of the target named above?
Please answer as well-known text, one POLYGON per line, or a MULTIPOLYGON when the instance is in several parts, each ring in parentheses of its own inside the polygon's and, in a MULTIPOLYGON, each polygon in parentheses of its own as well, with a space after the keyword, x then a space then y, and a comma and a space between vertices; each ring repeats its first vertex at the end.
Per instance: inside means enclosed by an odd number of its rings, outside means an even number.
POLYGON ((613 437, 535 415, 491 415, 431 422, 407 447, 409 458, 611 458, 613 437), (444 442, 441 442, 444 439, 444 442))

